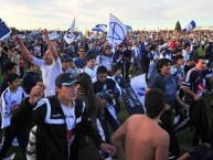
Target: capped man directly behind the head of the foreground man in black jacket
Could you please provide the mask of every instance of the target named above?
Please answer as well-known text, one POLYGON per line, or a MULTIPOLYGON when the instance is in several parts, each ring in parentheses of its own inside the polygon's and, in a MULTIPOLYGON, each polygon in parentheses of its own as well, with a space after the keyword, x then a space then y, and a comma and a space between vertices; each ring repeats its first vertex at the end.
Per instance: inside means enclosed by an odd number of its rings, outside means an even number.
POLYGON ((63 54, 61 56, 61 61, 62 61, 62 72, 71 73, 74 77, 76 77, 79 74, 79 70, 72 62, 71 56, 68 56, 67 54, 63 54))

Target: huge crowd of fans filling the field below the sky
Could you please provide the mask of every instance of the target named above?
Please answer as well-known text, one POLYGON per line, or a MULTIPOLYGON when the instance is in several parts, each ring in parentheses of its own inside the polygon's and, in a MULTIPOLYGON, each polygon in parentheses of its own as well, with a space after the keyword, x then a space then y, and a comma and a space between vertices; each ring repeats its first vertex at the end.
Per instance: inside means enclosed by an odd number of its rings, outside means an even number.
POLYGON ((0 67, 0 160, 14 138, 28 160, 195 160, 200 148, 212 152, 203 99, 213 93, 211 31, 136 31, 113 46, 105 35, 51 41, 44 29, 1 41, 0 67), (146 74, 146 114, 120 124, 121 88, 138 74, 146 74), (187 127, 194 128, 192 150, 181 156, 177 132, 187 127))

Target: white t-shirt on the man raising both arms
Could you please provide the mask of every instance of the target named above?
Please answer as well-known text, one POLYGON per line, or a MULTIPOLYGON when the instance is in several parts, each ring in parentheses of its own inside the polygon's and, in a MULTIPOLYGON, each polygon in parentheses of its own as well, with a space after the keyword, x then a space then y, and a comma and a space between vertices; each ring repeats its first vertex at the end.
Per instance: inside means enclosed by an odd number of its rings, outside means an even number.
POLYGON ((55 95, 55 78, 62 73, 62 63, 60 57, 53 61, 51 65, 46 65, 44 60, 33 56, 33 64, 38 65, 42 71, 42 79, 45 85, 44 96, 55 95))

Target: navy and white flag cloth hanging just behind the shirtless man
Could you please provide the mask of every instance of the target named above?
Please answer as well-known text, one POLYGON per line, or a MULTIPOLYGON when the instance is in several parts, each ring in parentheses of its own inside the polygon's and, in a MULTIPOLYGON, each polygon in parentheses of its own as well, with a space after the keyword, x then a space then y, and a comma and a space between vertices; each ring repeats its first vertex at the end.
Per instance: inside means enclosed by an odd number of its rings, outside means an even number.
POLYGON ((145 74, 132 77, 130 82, 124 84, 123 99, 129 115, 146 113, 146 108, 143 107, 146 88, 145 74))

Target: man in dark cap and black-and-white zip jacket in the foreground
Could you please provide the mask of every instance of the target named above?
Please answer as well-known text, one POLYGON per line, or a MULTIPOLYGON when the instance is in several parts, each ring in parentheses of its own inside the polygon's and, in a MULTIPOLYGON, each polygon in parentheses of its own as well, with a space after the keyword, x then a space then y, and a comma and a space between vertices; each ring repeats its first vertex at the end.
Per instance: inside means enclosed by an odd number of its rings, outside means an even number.
POLYGON ((105 143, 94 129, 85 104, 76 99, 77 85, 71 73, 62 73, 55 79, 56 95, 41 99, 42 88, 31 90, 24 106, 33 108, 28 159, 77 160, 77 150, 86 142, 86 135, 98 149, 109 156, 115 153, 115 148, 105 143))

